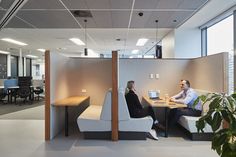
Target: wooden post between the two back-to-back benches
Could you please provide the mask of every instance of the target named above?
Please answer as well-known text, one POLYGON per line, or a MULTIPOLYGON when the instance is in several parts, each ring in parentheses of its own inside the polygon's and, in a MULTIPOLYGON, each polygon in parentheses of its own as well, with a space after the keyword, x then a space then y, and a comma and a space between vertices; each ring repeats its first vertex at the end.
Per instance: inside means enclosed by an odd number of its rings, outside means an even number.
POLYGON ((112 141, 118 141, 118 52, 112 51, 112 141))

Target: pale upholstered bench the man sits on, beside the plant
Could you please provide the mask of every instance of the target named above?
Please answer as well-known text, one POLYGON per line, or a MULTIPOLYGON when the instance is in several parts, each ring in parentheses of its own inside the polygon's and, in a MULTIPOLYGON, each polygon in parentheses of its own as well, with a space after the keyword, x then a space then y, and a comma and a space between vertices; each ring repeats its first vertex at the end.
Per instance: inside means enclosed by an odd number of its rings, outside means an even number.
MULTIPOLYGON (((195 89, 198 95, 206 95, 207 93, 211 93, 209 91, 195 89)), ((204 104, 202 109, 202 116, 209 110, 209 103, 204 104)), ((201 117, 191 117, 191 116, 181 116, 179 119, 179 124, 187 131, 190 138, 192 140, 211 140, 212 137, 212 129, 207 124, 205 126, 204 133, 197 131, 196 121, 198 121, 201 117)))

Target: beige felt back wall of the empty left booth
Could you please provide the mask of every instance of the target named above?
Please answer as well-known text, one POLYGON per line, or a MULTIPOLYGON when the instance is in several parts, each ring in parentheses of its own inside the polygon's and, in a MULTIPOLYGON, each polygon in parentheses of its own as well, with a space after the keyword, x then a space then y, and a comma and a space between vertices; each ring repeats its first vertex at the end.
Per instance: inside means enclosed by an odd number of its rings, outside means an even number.
POLYGON ((91 105, 103 104, 107 90, 112 87, 111 59, 71 58, 67 71, 71 96, 87 95, 91 105))

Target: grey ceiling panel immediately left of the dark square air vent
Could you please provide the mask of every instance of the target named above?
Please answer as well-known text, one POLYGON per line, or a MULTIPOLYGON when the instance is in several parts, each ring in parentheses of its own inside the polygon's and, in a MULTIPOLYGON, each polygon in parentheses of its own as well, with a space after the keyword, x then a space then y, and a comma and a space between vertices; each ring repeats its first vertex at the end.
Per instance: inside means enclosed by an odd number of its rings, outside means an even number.
POLYGON ((61 11, 19 11, 17 16, 37 28, 78 28, 78 24, 66 10, 61 11))

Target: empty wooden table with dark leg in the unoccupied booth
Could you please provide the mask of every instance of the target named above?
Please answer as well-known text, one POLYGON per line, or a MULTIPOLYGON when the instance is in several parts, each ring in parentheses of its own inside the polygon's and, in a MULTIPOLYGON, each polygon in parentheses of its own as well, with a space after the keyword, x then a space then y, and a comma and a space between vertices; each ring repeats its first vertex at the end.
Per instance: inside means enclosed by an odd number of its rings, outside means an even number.
POLYGON ((59 101, 56 101, 54 106, 62 106, 65 107, 65 136, 68 136, 68 107, 79 106, 86 100, 89 100, 89 96, 74 96, 68 97, 59 101))

